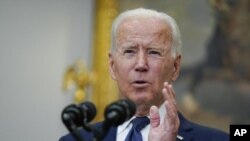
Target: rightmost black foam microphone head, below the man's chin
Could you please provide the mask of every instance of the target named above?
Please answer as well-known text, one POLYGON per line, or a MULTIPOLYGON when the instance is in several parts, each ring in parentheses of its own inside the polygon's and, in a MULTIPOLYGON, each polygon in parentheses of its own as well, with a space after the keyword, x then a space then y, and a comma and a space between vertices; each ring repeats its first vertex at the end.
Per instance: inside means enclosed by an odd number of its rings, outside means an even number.
POLYGON ((136 112, 135 104, 127 99, 111 103, 105 109, 104 129, 118 126, 130 119, 136 112))

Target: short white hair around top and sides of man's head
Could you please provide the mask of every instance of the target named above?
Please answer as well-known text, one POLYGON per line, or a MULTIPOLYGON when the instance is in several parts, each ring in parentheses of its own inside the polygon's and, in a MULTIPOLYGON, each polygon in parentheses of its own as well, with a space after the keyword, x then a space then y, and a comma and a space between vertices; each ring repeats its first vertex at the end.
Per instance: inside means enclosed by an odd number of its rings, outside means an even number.
POLYGON ((114 52, 116 49, 116 32, 119 25, 127 18, 130 17, 146 17, 146 18, 158 18, 166 22, 171 28, 172 43, 171 43, 171 54, 173 57, 181 54, 181 35, 178 25, 175 20, 166 13, 158 12, 151 9, 138 8, 134 10, 128 10, 121 13, 113 22, 111 30, 111 50, 114 52))

